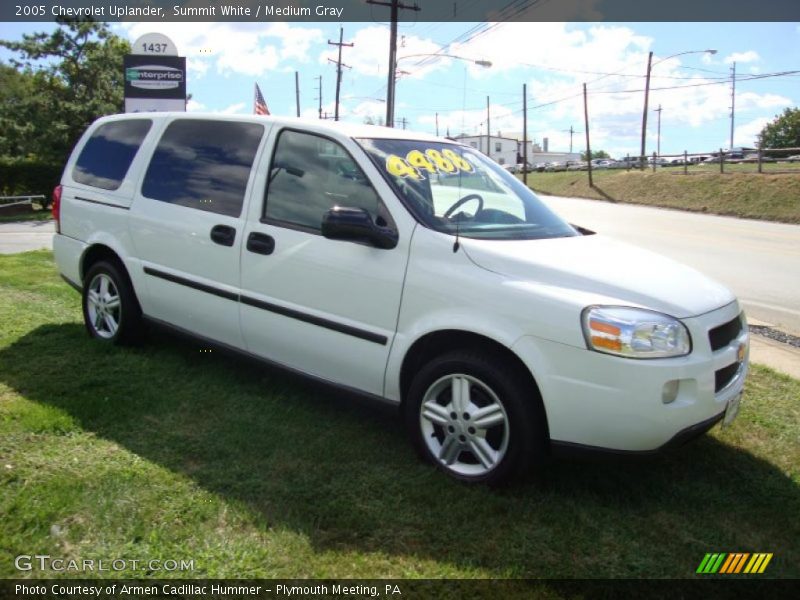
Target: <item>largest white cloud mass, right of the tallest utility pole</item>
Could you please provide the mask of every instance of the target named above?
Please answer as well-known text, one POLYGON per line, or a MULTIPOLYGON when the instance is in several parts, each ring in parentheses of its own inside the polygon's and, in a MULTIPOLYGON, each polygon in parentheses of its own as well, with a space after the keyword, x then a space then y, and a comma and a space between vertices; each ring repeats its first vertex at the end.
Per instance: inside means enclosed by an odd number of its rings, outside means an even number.
MULTIPOLYGON (((497 74, 527 78, 530 96, 529 135, 540 142, 543 137, 548 137, 553 150, 569 150, 570 124, 576 130, 584 129, 582 84, 586 82, 592 146, 624 156, 628 152, 639 152, 644 74, 647 53, 653 46, 652 38, 640 35, 627 25, 599 24, 585 28, 564 23, 504 23, 497 26, 489 24, 485 33, 463 45, 453 45, 447 52, 456 55, 469 52, 470 56, 492 61, 493 65, 488 70, 469 67, 473 88, 476 78, 497 74), (523 58, 520 58, 519 52, 509 51, 509 48, 531 48, 534 43, 536 51, 526 53, 523 58), (559 126, 554 127, 554 123, 559 126)), ((664 54, 669 56, 669 52, 664 54)), ((652 111, 659 105, 663 108, 662 148, 665 138, 669 139, 669 132, 676 128, 689 126, 700 129, 711 121, 728 117, 730 80, 725 77, 727 73, 706 73, 683 68, 710 59, 711 55, 704 53, 667 59, 655 55, 649 97, 649 151, 655 149, 657 139, 657 115, 652 111)), ((731 54, 728 59, 753 62, 760 60, 760 57, 754 51, 747 51, 731 54)), ((713 64, 721 63, 717 61, 713 64)), ((431 85, 433 94, 438 83, 431 79, 428 77, 425 83, 431 85)), ((482 96, 475 92, 475 89, 469 90, 471 100, 467 102, 468 106, 475 106, 476 97, 482 101, 482 96)), ((491 91, 486 90, 486 94, 491 94, 491 91)), ((491 95, 491 98, 492 131, 521 131, 521 98, 496 95, 491 95), (500 103, 506 108, 501 109, 500 103)), ((791 105, 790 100, 777 94, 740 92, 737 95, 737 111, 788 105, 791 105)), ((447 112, 440 110, 440 132, 449 127, 452 134, 462 131, 470 135, 478 133, 480 124, 485 121, 485 110, 475 108, 447 112)), ((397 114, 402 116, 400 112, 397 114)), ((433 130, 434 121, 432 110, 420 114, 417 119, 429 131, 433 130)), ((676 140, 673 137, 670 144, 674 143, 676 140)), ((715 141, 703 143, 711 147, 715 141)), ((573 136, 573 148, 584 144, 582 134, 573 136)))

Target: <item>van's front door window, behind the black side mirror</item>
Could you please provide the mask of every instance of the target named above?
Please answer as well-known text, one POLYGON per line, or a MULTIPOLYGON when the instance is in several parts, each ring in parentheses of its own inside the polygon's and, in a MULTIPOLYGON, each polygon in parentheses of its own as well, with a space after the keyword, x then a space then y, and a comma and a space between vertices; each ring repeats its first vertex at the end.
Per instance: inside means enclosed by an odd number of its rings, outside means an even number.
POLYGON ((319 233, 334 206, 363 208, 386 221, 377 192, 350 154, 336 142, 286 129, 279 135, 267 180, 263 218, 319 233))

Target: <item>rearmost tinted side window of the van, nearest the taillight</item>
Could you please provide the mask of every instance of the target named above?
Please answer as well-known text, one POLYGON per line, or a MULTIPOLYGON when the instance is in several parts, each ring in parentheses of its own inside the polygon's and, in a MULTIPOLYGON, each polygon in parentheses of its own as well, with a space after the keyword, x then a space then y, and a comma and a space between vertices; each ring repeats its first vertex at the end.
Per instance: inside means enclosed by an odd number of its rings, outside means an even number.
POLYGON ((118 189, 152 124, 150 119, 130 119, 100 125, 81 150, 72 179, 104 190, 118 189))

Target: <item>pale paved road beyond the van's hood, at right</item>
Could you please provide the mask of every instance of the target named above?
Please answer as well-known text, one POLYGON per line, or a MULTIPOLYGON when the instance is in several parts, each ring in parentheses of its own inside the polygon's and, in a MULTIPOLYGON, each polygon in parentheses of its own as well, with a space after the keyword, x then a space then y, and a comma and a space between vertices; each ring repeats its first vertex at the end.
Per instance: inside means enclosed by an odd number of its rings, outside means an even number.
POLYGON ((733 290, 750 317, 800 335, 800 225, 542 199, 570 223, 695 267, 733 290))

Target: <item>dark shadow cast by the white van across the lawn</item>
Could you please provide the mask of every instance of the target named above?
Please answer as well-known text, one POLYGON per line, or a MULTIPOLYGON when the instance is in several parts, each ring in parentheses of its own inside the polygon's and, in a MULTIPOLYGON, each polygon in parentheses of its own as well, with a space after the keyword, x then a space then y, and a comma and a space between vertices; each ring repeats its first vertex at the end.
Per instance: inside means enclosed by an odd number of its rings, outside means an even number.
POLYGON ((393 410, 163 333, 109 349, 43 325, 0 352, 0 380, 320 551, 589 578, 693 577, 706 552, 760 551, 773 576, 800 574, 797 486, 712 437, 492 491, 417 461, 393 410))

